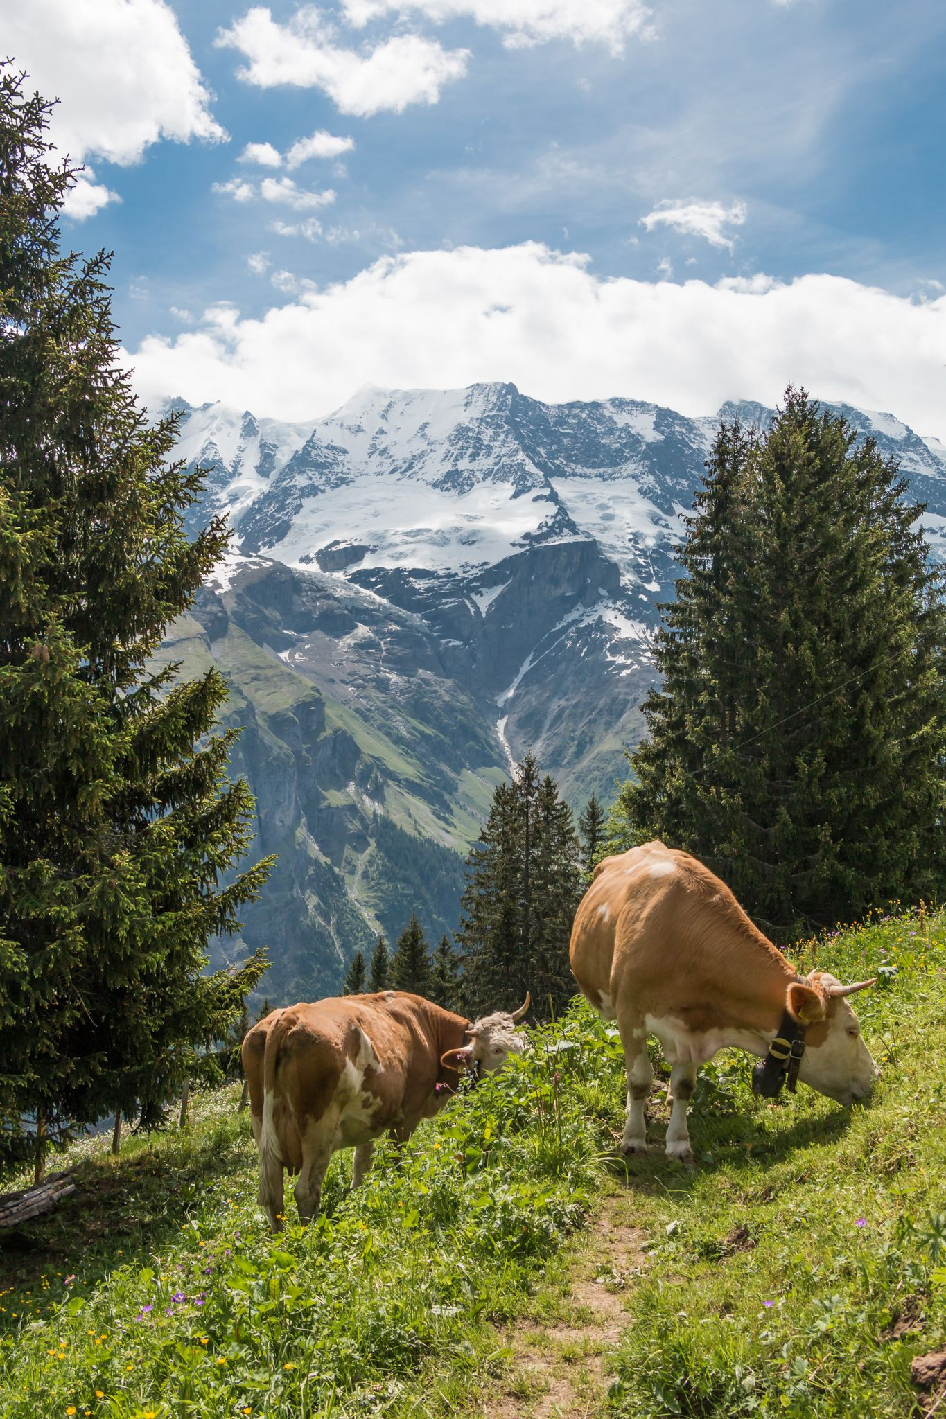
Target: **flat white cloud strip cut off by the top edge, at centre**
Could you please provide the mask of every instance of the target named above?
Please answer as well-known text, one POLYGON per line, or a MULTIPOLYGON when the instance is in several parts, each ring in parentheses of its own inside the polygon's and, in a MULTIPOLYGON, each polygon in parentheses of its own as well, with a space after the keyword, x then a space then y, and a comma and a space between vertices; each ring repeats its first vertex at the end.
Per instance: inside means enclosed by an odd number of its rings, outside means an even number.
POLYGON ((505 31, 509 47, 572 40, 597 41, 620 54, 634 34, 647 33, 650 7, 642 0, 343 0, 353 26, 365 26, 386 11, 418 11, 441 23, 468 17, 505 31))

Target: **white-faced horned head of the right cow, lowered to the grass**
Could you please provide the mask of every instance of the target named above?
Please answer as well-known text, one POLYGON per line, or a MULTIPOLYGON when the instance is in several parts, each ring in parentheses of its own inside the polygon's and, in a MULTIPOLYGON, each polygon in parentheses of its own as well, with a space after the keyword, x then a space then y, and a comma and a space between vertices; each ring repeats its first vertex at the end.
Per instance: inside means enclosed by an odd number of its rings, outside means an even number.
POLYGON ((841 985, 827 971, 813 971, 789 986, 789 1013, 806 1026, 798 1078, 838 1104, 864 1098, 881 1073, 845 999, 855 990, 865 990, 875 979, 841 985))

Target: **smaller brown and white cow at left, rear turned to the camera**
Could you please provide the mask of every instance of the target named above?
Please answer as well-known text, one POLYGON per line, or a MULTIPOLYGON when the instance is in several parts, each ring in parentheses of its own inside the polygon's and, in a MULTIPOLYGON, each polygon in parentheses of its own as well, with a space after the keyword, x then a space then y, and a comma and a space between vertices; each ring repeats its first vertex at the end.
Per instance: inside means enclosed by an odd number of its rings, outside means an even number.
POLYGON ((260 1152, 260 1203, 282 1230, 282 1169, 299 1174, 295 1200, 304 1222, 319 1210, 332 1154, 355 1148, 352 1186, 372 1166, 384 1132, 403 1144, 454 1093, 465 1069, 499 1069, 525 1047, 512 1015, 471 1023, 404 990, 346 995, 272 1010, 247 1033, 243 1067, 250 1084, 260 1152))

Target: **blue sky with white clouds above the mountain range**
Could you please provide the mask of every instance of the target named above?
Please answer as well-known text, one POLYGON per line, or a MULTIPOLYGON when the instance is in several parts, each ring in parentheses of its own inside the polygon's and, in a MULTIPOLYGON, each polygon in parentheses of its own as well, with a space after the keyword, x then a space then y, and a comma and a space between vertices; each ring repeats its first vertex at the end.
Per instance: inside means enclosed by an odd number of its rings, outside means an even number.
POLYGON ((4 16, 150 400, 513 377, 696 413, 794 379, 946 438, 942 0, 4 16), (288 166, 316 132, 350 145, 288 166))

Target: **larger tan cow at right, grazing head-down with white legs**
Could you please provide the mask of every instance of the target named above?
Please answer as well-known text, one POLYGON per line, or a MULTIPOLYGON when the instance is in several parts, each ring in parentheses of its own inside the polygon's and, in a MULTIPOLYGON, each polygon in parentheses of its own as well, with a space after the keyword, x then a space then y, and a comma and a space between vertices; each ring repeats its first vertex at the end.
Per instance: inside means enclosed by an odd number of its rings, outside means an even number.
POLYGON ((617 1020, 627 1064, 624 1154, 647 1147, 648 1034, 671 1064, 667 1152, 685 1162, 694 1161, 686 1108, 696 1070, 726 1046, 769 1056, 783 1022, 797 1022, 798 1078, 841 1104, 862 1098, 879 1073, 844 999, 874 982, 844 986, 824 971, 798 976, 725 883, 662 843, 599 864, 574 917, 572 971, 604 1019, 617 1020))

